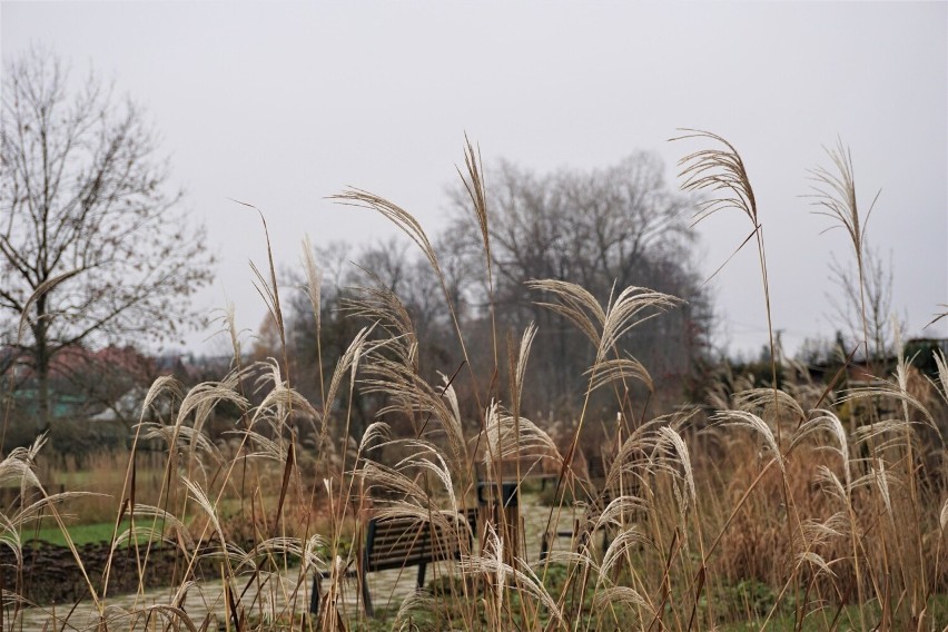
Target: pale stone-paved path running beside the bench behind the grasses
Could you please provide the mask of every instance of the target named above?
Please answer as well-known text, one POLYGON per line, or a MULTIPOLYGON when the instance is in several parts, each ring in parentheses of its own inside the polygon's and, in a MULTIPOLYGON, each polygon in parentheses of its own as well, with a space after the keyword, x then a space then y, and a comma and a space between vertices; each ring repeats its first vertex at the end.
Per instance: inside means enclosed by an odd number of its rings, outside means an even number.
MULTIPOLYGON (((523 519, 523 533, 525 535, 525 550, 521 554, 525 554, 530 563, 535 563, 540 555, 541 534, 546 526, 550 508, 524 502, 520 507, 520 513, 523 519)), ((572 515, 560 516, 561 524, 572 524, 572 515)), ((565 547, 569 546, 569 542, 561 540, 554 542, 553 546, 554 549, 565 547)), ((445 573, 456 572, 455 564, 440 563, 434 567, 428 566, 427 579, 432 580, 445 573)), ((417 569, 415 567, 369 573, 368 584, 375 606, 377 609, 397 608, 402 600, 415 590, 416 576, 417 569)), ((254 613, 250 616, 259 616, 261 613, 265 615, 267 613, 286 615, 290 611, 290 608, 286 605, 288 603, 293 604, 292 610, 299 615, 308 608, 312 577, 300 577, 298 569, 289 569, 286 573, 274 574, 268 577, 243 580, 244 583, 248 581, 250 582, 249 587, 238 584, 237 590, 243 591, 240 603, 244 609, 254 613), (258 584, 261 585, 258 586, 258 584)), ((147 591, 144 595, 108 595, 105 600, 105 618, 109 622, 108 628, 110 630, 144 629, 146 626, 145 611, 148 606, 154 609, 152 616, 175 618, 176 614, 172 611, 167 608, 162 610, 160 604, 174 603, 174 591, 176 590, 178 590, 177 586, 147 591)), ((357 585, 355 582, 347 582, 343 592, 343 600, 346 611, 350 615, 356 614, 357 598, 357 585)), ((68 608, 72 608, 72 605, 70 604, 68 608)), ((210 581, 190 585, 182 610, 198 629, 203 626, 206 619, 210 618, 206 629, 223 630, 225 618, 228 616, 223 583, 210 581)), ((4 613, 3 629, 0 632, 7 630, 22 630, 24 632, 91 631, 96 630, 101 621, 91 601, 81 602, 71 613, 63 606, 26 609, 18 616, 14 626, 10 625, 11 614, 11 609, 8 609, 4 613)), ((158 629, 161 628, 164 626, 158 625, 158 629)), ((184 626, 180 629, 185 630, 184 626)))

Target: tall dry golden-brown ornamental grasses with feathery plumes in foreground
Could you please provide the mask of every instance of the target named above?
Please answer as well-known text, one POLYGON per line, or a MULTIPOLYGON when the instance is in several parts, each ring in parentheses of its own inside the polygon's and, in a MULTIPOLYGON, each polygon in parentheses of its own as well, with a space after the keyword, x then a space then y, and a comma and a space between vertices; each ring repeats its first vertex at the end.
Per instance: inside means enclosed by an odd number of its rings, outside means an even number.
MULTIPOLYGON (((751 220, 748 241, 758 247, 770 326, 763 234, 743 162, 720 137, 688 131, 682 138, 710 145, 682 161, 684 188, 707 195, 698 218, 738 208, 751 220)), ((816 172, 822 187, 817 201, 847 229, 860 258, 865 227, 856 208, 851 160, 841 149, 831 156, 838 172, 816 172)), ((486 285, 492 287, 490 216, 478 156, 470 144, 465 167, 462 177, 481 227, 486 285)), ((432 244, 407 211, 362 190, 338 199, 392 220, 443 278, 432 244)), ((304 251, 318 340, 322 280, 308 243, 304 251)), ((464 581, 435 577, 435 594, 407 598, 386 623, 398 629, 713 630, 747 620, 767 628, 780 620, 798 630, 930 630, 946 623, 937 621, 935 605, 948 587, 948 504, 944 458, 930 458, 945 452, 936 423, 948 405, 944 357, 937 359, 934 381, 915 373, 910 358, 900 358, 892 375, 857 388, 841 381, 813 384, 806 372, 792 369, 778 387, 773 362, 769 387, 754 388, 740 377, 720 382, 709 394, 710 414, 684 407, 664 416, 636 416, 616 395, 622 434, 605 484, 596 487, 574 467, 581 461, 583 427, 599 423, 586 412, 589 395, 598 388, 628 393, 632 382, 653 388, 646 367, 620 355, 618 343, 642 320, 675 308, 674 297, 616 288, 601 305, 566 282, 532 284, 537 300, 573 323, 594 349, 582 412, 569 434, 551 436, 520 411, 534 327, 510 346, 507 358, 498 357, 494 334, 494 366, 487 371, 503 367, 500 374, 508 377, 490 394, 478 387, 484 376, 470 362, 460 374, 433 384, 422 377, 422 340, 408 310, 393 293, 369 288, 348 308, 371 325, 325 376, 319 401, 309 402, 282 371, 289 363, 273 257, 268 274, 254 271, 284 340, 284 357, 243 366, 231 318, 236 359, 229 375, 187 392, 171 378, 151 387, 146 407, 170 395, 177 413, 162 423, 140 424, 135 445, 162 442, 168 456, 160 485, 147 491, 132 448, 121 493, 111 501, 116 524, 129 517, 132 526, 115 533, 113 550, 131 551, 145 577, 154 563, 152 546, 132 535, 160 525, 166 545, 178 551, 181 574, 166 602, 129 609, 110 602, 109 561, 101 574, 85 573, 89 610, 99 629, 205 629, 209 620, 194 621, 185 609, 199 560, 210 560, 225 585, 228 629, 365 628, 369 622, 342 596, 369 508, 372 515, 409 515, 419 524, 436 524, 438 533, 454 534, 464 551, 454 566, 464 581), (461 381, 470 381, 483 411, 478 433, 471 433, 470 421, 462 418, 455 392, 461 381), (334 406, 340 393, 355 388, 386 402, 358 445, 338 438, 348 436, 352 401, 334 406), (241 413, 226 450, 203 432, 221 403, 241 413), (411 433, 396 436, 386 423, 395 418, 411 433), (297 442, 304 427, 316 436, 315 461, 309 457, 305 467, 297 442), (376 461, 378 446, 401 458, 376 461), (490 472, 511 457, 557 472, 547 529, 555 527, 564 498, 580 495, 577 491, 595 497, 604 487, 616 490, 604 511, 590 514, 585 524, 590 532, 610 527, 609 546, 600 550, 587 545, 594 539, 577 537, 570 550, 527 562, 511 555, 504 525, 488 525, 485 537, 470 547, 461 510, 473 501, 475 465, 481 460, 490 472), (196 546, 199 542, 209 546, 196 546), (302 612, 308 604, 308 579, 317 569, 329 572, 329 579, 320 616, 313 620, 302 612), (263 596, 246 603, 241 595, 251 585, 263 596), (766 599, 754 598, 754 590, 766 599), (855 608, 843 608, 849 604, 855 608)), ((446 286, 444 290, 467 361, 464 332, 446 286)), ((490 310, 493 319, 493 304, 490 310)), ((30 450, 13 451, 0 463, 0 483, 16 482, 41 494, 2 513, 2 543, 20 570, 21 534, 30 521, 51 516, 68 533, 62 506, 73 493, 42 492, 36 475, 41 445, 40 440, 30 450)), ((71 551, 85 569, 79 551, 71 551)), ((17 585, 3 586, 8 624, 16 624, 28 605, 22 582, 19 573, 17 585)), ((139 582, 139 592, 145 583, 139 582)))

